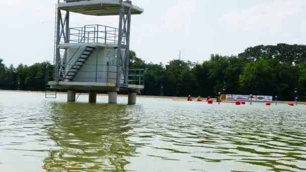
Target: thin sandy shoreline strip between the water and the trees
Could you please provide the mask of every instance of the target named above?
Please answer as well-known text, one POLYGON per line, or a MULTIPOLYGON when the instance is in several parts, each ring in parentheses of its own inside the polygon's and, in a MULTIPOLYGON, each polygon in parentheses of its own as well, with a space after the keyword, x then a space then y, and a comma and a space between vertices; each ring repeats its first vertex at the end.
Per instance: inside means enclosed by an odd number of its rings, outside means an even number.
MULTIPOLYGON (((19 92, 19 93, 39 93, 39 94, 45 94, 44 91, 27 91, 27 90, 0 90, 0 92, 19 92)), ((66 92, 57 92, 57 94, 60 95, 66 95, 66 92)), ((88 93, 75 93, 76 95, 88 95, 88 93)), ((97 96, 108 96, 107 94, 97 94, 97 96)), ((118 94, 118 97, 128 97, 128 95, 126 94, 118 94)), ((173 96, 147 96, 147 95, 137 95, 137 98, 155 98, 155 99, 170 99, 170 100, 180 100, 180 101, 186 101, 187 102, 187 98, 186 97, 173 97, 173 96)), ((195 97, 193 98, 195 99, 195 97)), ((205 100, 206 98, 202 98, 203 100, 205 100)), ((216 98, 213 99, 214 102, 216 101, 216 98)), ((226 100, 222 100, 222 101, 226 101, 226 100)), ((227 100, 228 101, 228 100, 227 100)), ((192 101, 192 102, 197 102, 197 101, 192 101)), ((205 101, 202 101, 202 103, 204 103, 205 101)), ((250 101, 243 101, 243 102, 250 102, 250 101)), ((293 101, 277 101, 277 103, 281 103, 281 104, 287 104, 288 102, 293 102, 293 101)), ((265 104, 266 101, 264 102, 256 102, 253 101, 253 103, 262 103, 265 104)), ((275 101, 272 101, 272 103, 275 103, 275 101)), ((297 102, 297 104, 300 105, 304 105, 305 102, 297 102)))

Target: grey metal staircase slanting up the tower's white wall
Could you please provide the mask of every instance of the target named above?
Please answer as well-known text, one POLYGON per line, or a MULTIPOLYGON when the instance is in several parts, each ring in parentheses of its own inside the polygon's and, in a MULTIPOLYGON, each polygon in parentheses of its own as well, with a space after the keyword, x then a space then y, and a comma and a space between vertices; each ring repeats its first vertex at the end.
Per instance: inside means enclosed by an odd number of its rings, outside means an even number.
POLYGON ((86 60, 93 53, 94 50, 95 50, 95 47, 86 46, 85 50, 83 51, 81 56, 78 58, 78 60, 75 61, 75 63, 67 71, 66 75, 63 78, 63 81, 66 81, 66 82, 72 81, 75 75, 77 75, 77 73, 80 71, 80 69, 85 64, 86 60))

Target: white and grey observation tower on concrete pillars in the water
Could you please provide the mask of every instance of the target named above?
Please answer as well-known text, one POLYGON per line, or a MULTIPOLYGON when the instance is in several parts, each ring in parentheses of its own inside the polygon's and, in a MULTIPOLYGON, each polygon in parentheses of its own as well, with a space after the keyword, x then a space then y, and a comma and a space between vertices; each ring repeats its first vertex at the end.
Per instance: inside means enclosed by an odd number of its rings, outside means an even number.
POLYGON ((123 0, 58 0, 56 7, 54 65, 46 68, 46 98, 67 90, 67 101, 77 91, 88 91, 96 103, 97 92, 106 92, 109 103, 117 93, 128 93, 128 104, 144 88, 144 70, 129 68, 131 16, 143 9, 123 0), (87 16, 118 16, 118 26, 84 25, 71 28, 70 13, 87 16))

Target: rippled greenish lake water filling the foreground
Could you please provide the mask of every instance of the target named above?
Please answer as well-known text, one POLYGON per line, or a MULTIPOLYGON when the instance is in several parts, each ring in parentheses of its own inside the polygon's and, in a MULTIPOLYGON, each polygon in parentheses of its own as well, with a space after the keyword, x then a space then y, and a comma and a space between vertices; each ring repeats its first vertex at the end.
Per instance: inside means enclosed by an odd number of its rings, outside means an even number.
POLYGON ((0 171, 304 171, 306 106, 0 92, 0 171))

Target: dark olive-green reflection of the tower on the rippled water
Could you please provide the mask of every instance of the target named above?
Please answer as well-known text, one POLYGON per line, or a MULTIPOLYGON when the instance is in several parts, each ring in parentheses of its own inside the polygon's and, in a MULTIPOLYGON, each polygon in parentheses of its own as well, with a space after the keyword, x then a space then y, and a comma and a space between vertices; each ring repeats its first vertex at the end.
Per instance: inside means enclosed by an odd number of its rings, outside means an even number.
POLYGON ((47 128, 57 150, 44 160, 47 171, 124 170, 127 157, 135 154, 129 146, 129 117, 126 106, 54 104, 47 128))

